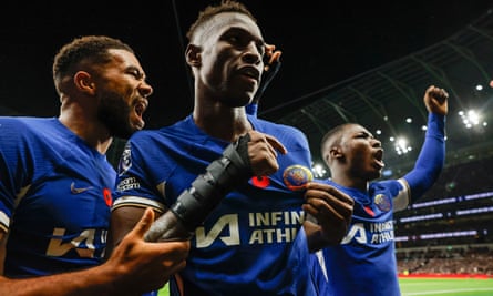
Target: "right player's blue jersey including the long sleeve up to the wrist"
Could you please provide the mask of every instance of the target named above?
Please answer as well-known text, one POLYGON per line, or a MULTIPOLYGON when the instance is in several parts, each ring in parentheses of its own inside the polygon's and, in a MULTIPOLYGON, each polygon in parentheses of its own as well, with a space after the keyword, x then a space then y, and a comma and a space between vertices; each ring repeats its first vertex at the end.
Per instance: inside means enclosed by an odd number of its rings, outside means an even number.
MULTIPOLYGON (((326 182, 355 200, 347 236, 322 251, 314 273, 323 273, 327 290, 337 296, 400 295, 394 254, 393 212, 420 198, 442 171, 445 159, 445 116, 430 113, 414 167, 402 178, 371 182, 367 192, 326 182), (318 264, 320 263, 320 264, 318 264)), ((318 276, 317 278, 322 278, 318 276)))

